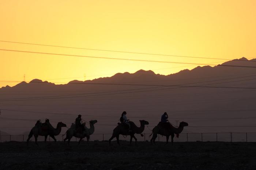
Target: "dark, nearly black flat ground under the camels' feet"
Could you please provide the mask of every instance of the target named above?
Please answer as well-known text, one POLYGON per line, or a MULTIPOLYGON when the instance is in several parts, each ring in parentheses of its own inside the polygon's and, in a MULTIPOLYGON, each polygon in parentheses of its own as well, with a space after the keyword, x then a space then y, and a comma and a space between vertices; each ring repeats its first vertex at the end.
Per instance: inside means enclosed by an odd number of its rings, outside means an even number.
POLYGON ((83 142, 71 147, 48 142, 39 147, 30 142, 0 143, 0 169, 256 169, 256 143, 177 142, 83 142))

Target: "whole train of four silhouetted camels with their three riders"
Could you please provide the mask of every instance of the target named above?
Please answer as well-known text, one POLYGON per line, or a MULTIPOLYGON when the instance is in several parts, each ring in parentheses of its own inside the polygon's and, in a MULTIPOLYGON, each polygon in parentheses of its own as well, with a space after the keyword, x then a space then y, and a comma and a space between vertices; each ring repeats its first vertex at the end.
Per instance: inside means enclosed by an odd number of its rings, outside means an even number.
MULTIPOLYGON (((122 116, 120 118, 121 123, 118 123, 118 125, 114 128, 112 137, 109 139, 109 146, 111 145, 111 141, 113 138, 116 138, 117 144, 120 145, 119 135, 125 135, 125 136, 129 135, 130 145, 132 143, 133 138, 135 139, 135 145, 137 144, 137 138, 135 137, 135 134, 140 134, 143 137, 142 133, 145 129, 145 125, 148 125, 149 123, 146 120, 139 120, 140 127, 138 127, 136 126, 135 123, 127 119, 126 114, 127 113, 125 111, 122 113, 122 116)), ((161 117, 161 122, 159 122, 158 125, 155 126, 154 129, 152 130, 151 135, 153 136, 150 140, 151 144, 153 143, 155 144, 155 139, 157 138, 157 135, 166 136, 166 144, 168 143, 169 137, 171 136, 172 144, 173 144, 174 135, 176 134, 178 137, 178 135, 182 132, 184 127, 188 126, 188 123, 180 122, 179 127, 176 128, 172 126, 171 123, 168 122, 167 118, 168 118, 168 115, 165 112, 161 117)), ((90 120, 89 121, 90 128, 88 128, 86 127, 86 123, 82 122, 81 115, 78 115, 78 118, 76 118, 75 123, 72 123, 71 127, 66 131, 65 133, 66 137, 64 139, 64 142, 68 140, 68 145, 69 145, 71 138, 76 137, 76 138, 79 138, 79 142, 78 142, 78 145, 79 145, 82 139, 86 137, 87 143, 89 143, 90 135, 93 134, 95 131, 94 124, 97 122, 98 122, 97 120, 90 120)), ((67 125, 62 122, 59 122, 57 123, 57 127, 54 128, 50 124, 49 119, 46 119, 45 123, 41 123, 41 120, 38 120, 35 126, 31 129, 29 133, 29 137, 27 139, 27 145, 29 144, 29 140, 33 135, 35 138, 36 145, 38 145, 37 143, 38 136, 44 136, 45 143, 48 136, 53 138, 54 141, 56 142, 56 138, 54 136, 57 136, 60 134, 62 127, 67 127, 67 125)))

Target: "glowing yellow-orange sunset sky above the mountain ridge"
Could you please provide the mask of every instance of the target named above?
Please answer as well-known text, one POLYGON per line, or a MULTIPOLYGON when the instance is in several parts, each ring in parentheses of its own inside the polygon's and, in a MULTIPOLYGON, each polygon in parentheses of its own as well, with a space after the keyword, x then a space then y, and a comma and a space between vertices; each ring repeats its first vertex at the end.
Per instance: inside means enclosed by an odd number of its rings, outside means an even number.
MULTIPOLYGON (((0 0, 0 40, 211 58, 252 58, 256 57, 255 8, 255 0, 0 0)), ((170 62, 225 61, 4 42, 0 42, 0 49, 170 62)), ((38 78, 66 83, 84 80, 84 74, 86 79, 94 79, 144 69, 167 75, 196 67, 8 51, 0 51, 0 61, 0 87, 14 86, 16 83, 3 81, 22 81, 24 74, 26 81, 38 78), (59 78, 69 79, 55 80, 59 78)))

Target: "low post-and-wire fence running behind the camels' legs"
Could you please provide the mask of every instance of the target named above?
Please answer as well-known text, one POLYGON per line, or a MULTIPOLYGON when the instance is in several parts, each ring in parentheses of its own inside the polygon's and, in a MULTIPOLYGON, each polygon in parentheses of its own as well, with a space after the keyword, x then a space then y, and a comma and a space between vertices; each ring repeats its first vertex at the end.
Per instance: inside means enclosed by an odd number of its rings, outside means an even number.
MULTIPOLYGON (((138 141, 150 141, 150 133, 143 133, 143 137, 140 135, 135 135, 138 141)), ((112 134, 92 134, 90 136, 90 141, 105 141, 108 140, 112 134)), ((28 135, 0 135, 0 142, 8 141, 18 141, 24 142, 28 138, 28 135)), ((55 136, 57 141, 63 141, 65 135, 55 136)), ((119 136, 120 140, 128 141, 129 136, 125 137, 123 135, 119 136)), ((73 137, 71 141, 78 141, 78 138, 73 137)), ((86 138, 84 139, 86 140, 86 138)), ((113 141, 116 140, 115 138, 113 141)), ((34 141, 34 137, 30 139, 34 141)), ((39 136, 38 141, 44 141, 44 137, 39 136)), ((48 136, 47 141, 53 141, 52 138, 48 136)), ((156 141, 165 142, 166 137, 158 135, 156 141)), ((170 140, 169 140, 170 141, 170 140)), ((256 142, 256 133, 181 133, 179 138, 174 137, 174 142, 195 142, 195 141, 212 141, 212 142, 256 142)))

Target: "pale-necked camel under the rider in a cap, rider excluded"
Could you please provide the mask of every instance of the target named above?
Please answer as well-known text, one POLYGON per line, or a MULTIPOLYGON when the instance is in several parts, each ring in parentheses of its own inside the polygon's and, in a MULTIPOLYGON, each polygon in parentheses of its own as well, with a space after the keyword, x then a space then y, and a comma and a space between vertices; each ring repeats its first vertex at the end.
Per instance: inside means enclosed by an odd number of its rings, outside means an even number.
POLYGON ((85 133, 76 133, 76 125, 72 123, 71 127, 66 132, 66 138, 64 139, 64 142, 68 139, 68 145, 72 137, 80 138, 78 145, 82 141, 83 138, 87 138, 87 143, 89 143, 90 135, 94 133, 94 124, 97 123, 97 120, 91 120, 90 121, 90 129, 85 126, 85 123, 83 123, 83 126, 85 128, 85 133))

